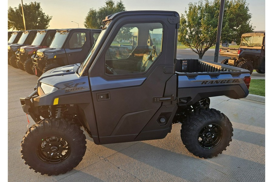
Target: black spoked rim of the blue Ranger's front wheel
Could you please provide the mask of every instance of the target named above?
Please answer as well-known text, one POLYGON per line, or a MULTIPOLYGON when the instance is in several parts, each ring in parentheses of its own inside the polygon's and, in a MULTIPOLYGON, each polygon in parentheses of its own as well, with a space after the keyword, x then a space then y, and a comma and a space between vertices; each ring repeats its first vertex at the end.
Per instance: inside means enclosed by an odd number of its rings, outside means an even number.
POLYGON ((59 136, 49 136, 41 139, 36 148, 38 158, 48 164, 62 163, 70 156, 70 153, 69 143, 59 136))

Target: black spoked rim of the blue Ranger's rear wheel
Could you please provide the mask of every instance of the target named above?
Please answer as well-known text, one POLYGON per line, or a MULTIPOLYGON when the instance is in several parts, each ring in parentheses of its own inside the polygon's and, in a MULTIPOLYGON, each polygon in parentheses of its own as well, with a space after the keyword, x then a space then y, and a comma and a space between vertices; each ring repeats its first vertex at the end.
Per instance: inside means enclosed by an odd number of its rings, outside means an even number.
POLYGON ((223 137, 223 130, 217 124, 206 125, 198 135, 198 143, 201 147, 210 149, 220 143, 223 137))

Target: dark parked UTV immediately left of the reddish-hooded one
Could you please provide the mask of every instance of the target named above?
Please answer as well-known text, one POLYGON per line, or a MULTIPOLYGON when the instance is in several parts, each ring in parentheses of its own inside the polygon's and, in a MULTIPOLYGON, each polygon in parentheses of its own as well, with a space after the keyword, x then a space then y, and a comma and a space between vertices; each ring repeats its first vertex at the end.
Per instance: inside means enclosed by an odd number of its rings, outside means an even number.
POLYGON ((35 35, 37 34, 38 30, 26 30, 23 31, 21 38, 16 44, 10 44, 8 45, 8 55, 9 63, 14 68, 18 68, 16 62, 16 52, 20 50, 20 47, 25 45, 30 45, 35 38, 35 35))

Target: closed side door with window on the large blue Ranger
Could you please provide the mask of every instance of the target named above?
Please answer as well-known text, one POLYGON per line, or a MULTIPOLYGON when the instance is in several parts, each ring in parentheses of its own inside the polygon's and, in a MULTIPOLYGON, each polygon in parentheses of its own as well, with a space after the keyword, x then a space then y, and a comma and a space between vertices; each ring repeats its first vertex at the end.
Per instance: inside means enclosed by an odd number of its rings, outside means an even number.
POLYGON ((99 74, 89 71, 101 144, 163 138, 176 108, 171 105, 176 93, 174 47, 167 51, 166 46, 174 46, 175 25, 154 19, 126 22, 108 35, 113 33, 113 39, 92 66, 99 74), (172 89, 166 95, 169 80, 172 89), (169 107, 163 106, 164 99, 169 107))

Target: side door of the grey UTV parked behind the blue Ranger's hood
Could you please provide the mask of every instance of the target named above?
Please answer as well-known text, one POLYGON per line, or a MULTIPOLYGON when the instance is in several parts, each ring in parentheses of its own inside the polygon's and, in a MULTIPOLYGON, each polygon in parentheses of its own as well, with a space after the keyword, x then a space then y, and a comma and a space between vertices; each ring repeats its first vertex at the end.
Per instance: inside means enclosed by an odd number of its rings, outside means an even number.
POLYGON ((65 44, 68 65, 84 61, 91 48, 90 42, 89 31, 76 30, 69 32, 65 44))

